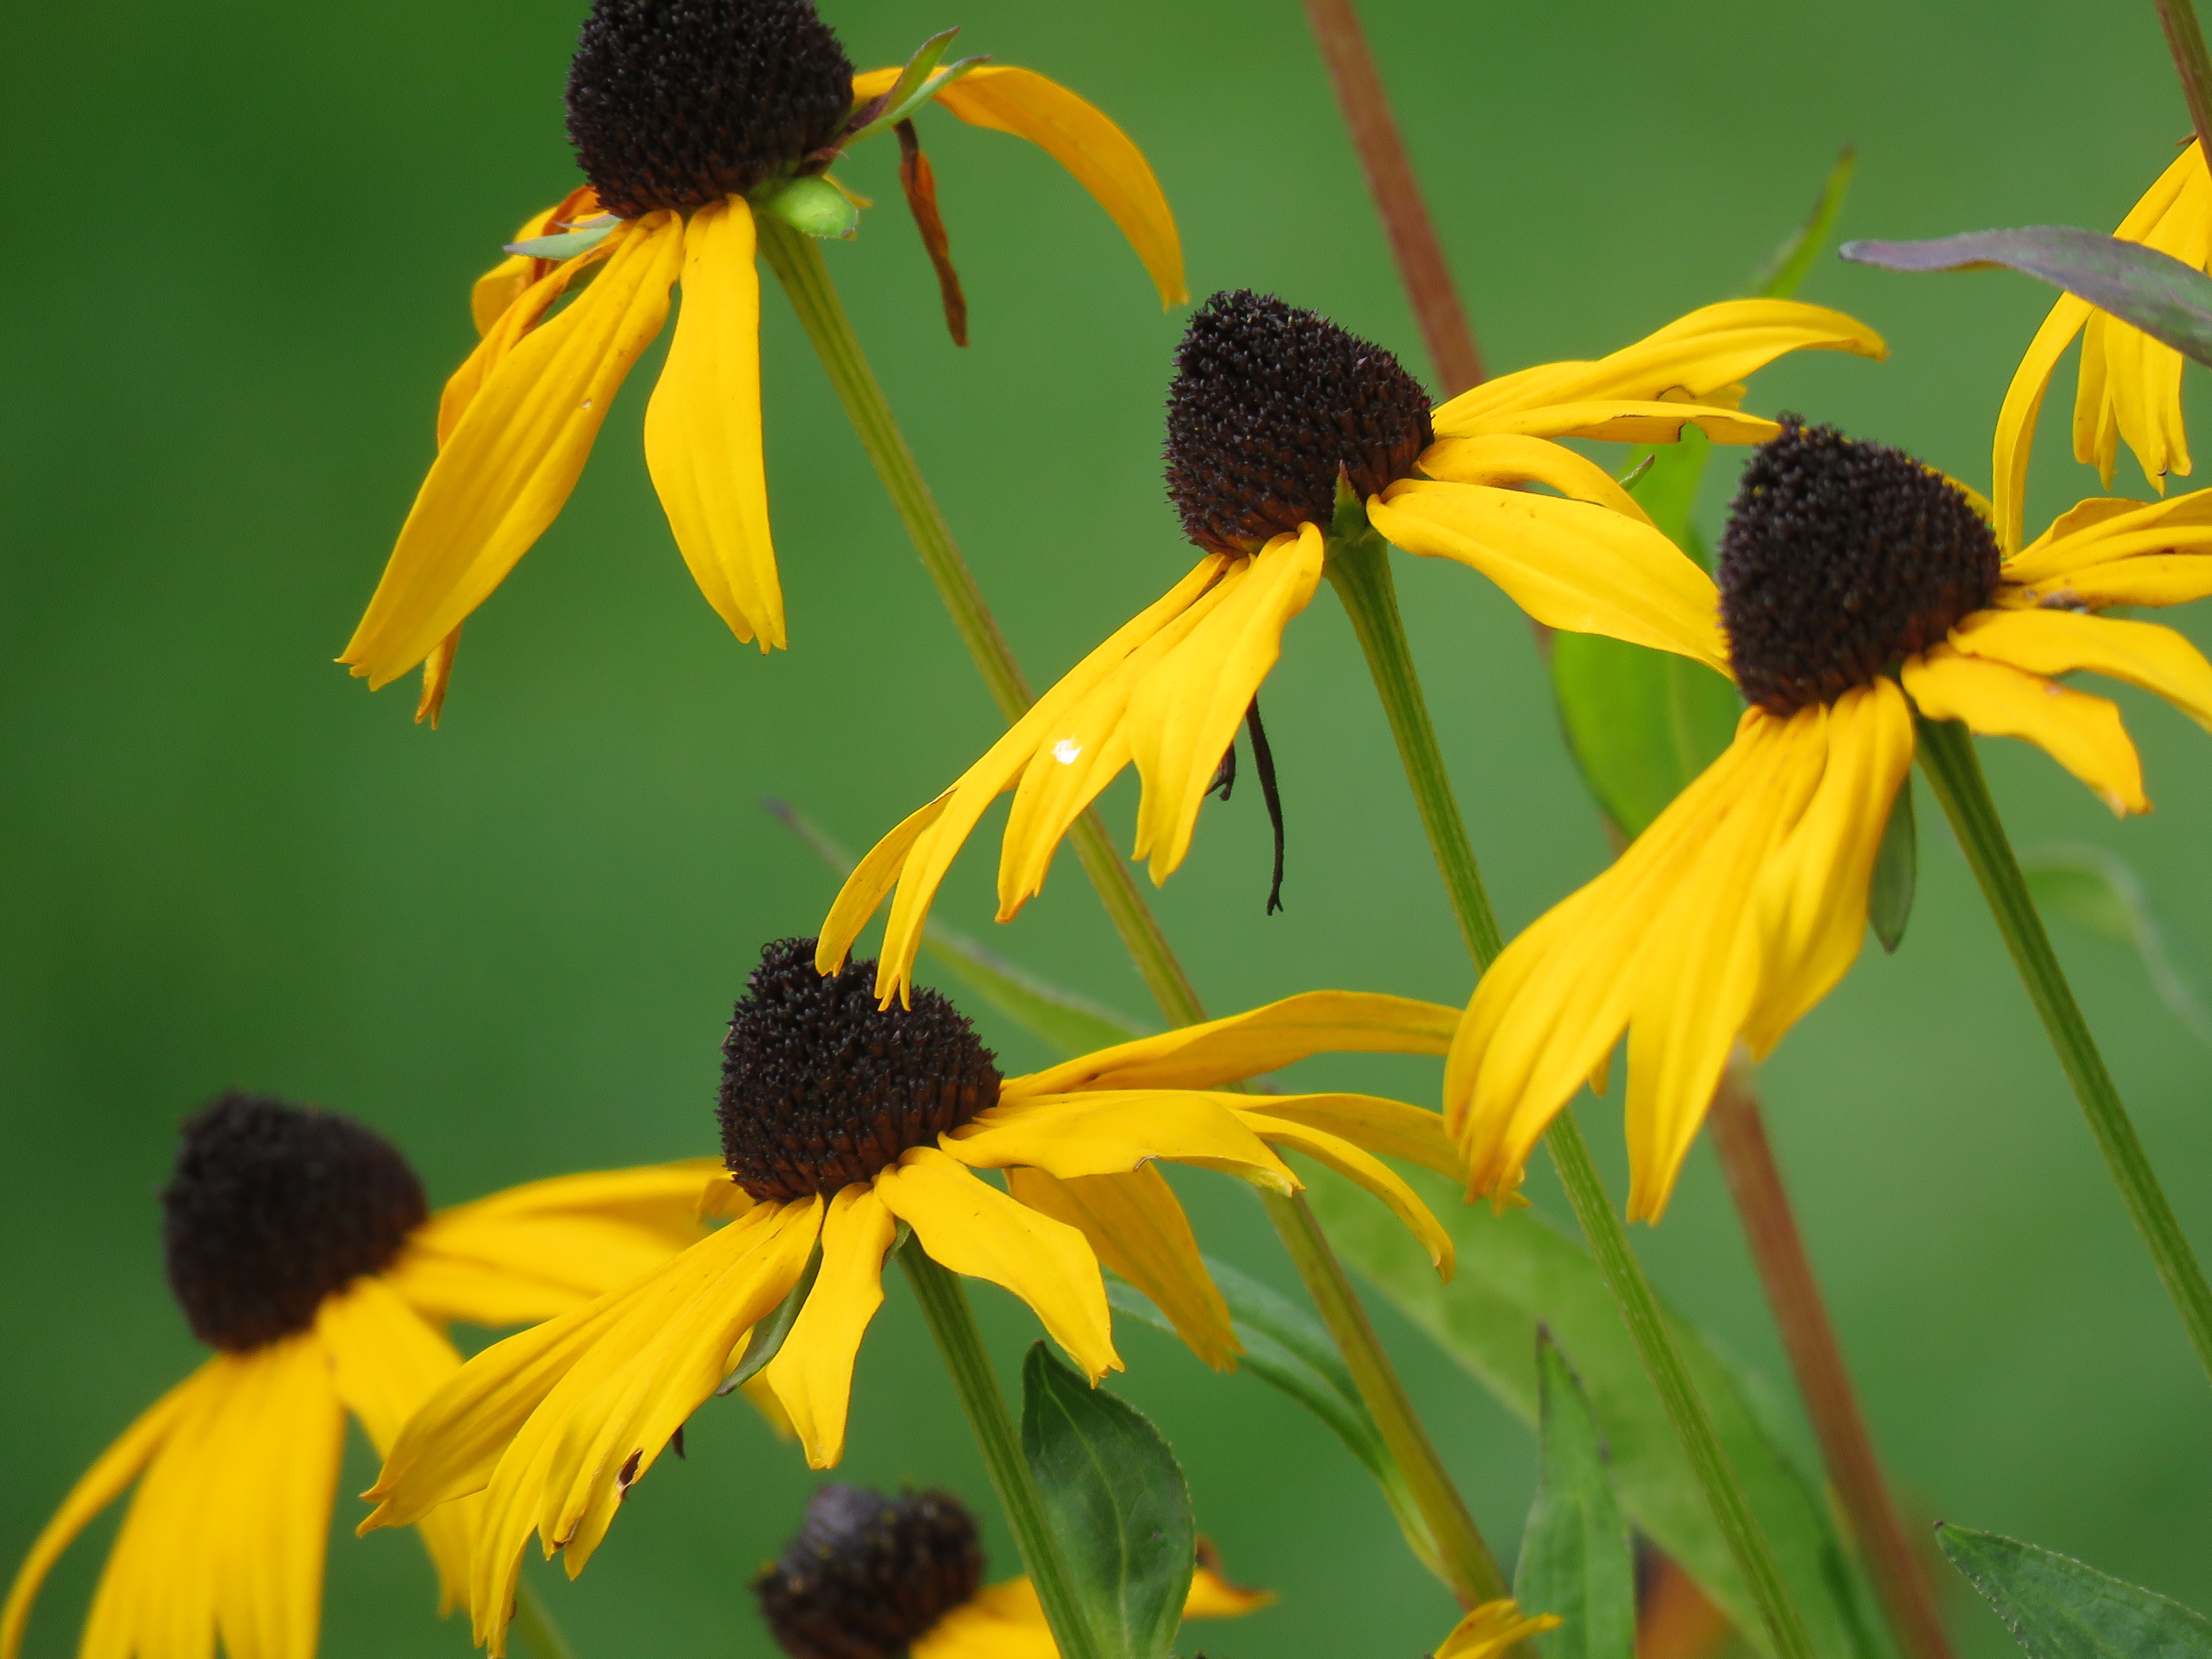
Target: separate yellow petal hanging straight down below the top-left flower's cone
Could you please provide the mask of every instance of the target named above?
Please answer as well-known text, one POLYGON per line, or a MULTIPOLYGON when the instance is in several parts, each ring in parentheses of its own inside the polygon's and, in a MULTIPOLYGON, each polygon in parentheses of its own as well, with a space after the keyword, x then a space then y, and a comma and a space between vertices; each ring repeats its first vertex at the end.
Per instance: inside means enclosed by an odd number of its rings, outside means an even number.
POLYGON ((783 646, 761 460, 761 272, 743 197, 710 201, 684 232, 684 307, 646 405, 646 467, 706 602, 739 639, 783 646))

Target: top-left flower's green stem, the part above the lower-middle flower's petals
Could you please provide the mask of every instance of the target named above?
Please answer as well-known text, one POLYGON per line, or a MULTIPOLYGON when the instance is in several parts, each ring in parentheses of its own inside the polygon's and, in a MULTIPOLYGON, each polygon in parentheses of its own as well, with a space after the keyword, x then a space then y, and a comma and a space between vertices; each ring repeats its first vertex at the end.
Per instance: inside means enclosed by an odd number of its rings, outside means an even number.
MULTIPOLYGON (((975 573, 960 555, 960 544, 953 542, 945 513, 938 511, 938 498, 929 493, 920 467, 914 465, 914 451, 907 447, 898 420, 891 418, 891 405, 885 400, 876 374, 860 354, 860 341, 852 332, 852 319, 845 316, 845 305, 830 281, 821 243, 770 215, 759 215, 754 223, 768 268, 776 272, 792 310, 799 312, 799 323, 814 341, 814 354, 821 358, 830 385, 836 387, 838 403, 845 405, 845 418, 860 436, 860 447, 874 462, 891 507, 898 509, 898 522, 907 526, 914 551, 922 555, 922 568, 929 571, 938 597, 951 613, 969 657, 975 659, 975 672, 982 675, 991 701, 1011 726, 1037 699, 1031 695, 1029 679, 1013 659, 1013 648, 1000 633, 982 588, 975 586, 975 573)), ((1190 987, 1181 962, 1175 960, 1175 951, 1168 947, 1166 933, 1159 931, 1150 905, 1137 891, 1128 865, 1115 854, 1097 812, 1084 812, 1068 838, 1075 843, 1075 856, 1082 860, 1084 874, 1091 876, 1091 885, 1097 887, 1121 945, 1137 962, 1137 973, 1144 975, 1168 1020, 1175 1024, 1203 1020, 1199 993, 1190 987)))

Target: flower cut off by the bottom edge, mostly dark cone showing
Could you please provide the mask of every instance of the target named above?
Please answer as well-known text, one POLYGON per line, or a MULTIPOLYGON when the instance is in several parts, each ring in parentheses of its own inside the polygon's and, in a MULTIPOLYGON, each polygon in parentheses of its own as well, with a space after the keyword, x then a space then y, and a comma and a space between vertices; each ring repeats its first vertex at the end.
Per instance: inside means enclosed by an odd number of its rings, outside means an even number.
MULTIPOLYGON (((1031 1582, 987 1586, 982 1566, 975 1520, 951 1493, 832 1484, 752 1590, 792 1659, 1057 1659, 1031 1582)), ((1186 1619, 1234 1619, 1270 1601, 1221 1577, 1199 1542, 1186 1619)))

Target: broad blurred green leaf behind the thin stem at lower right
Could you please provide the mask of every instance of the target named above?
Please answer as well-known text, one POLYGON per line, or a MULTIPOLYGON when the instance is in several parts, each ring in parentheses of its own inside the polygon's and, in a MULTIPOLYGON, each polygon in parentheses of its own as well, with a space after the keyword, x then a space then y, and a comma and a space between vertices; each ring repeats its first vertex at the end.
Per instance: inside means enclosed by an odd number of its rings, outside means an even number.
MULTIPOLYGON (((1453 1234, 1467 1267, 1436 1281, 1405 1228, 1343 1177, 1307 1175, 1307 1201, 1338 1254, 1475 1380, 1526 1422, 1537 1420, 1535 1332, 1544 1323, 1575 1360, 1613 1453, 1613 1491, 1628 1520, 1674 1557, 1761 1652, 1765 1624, 1721 1540, 1666 1409, 1644 1374, 1597 1265, 1531 1210, 1491 1214, 1427 1170, 1402 1170, 1453 1234), (1480 1263, 1480 1267, 1478 1267, 1480 1263)), ((1790 1597, 1820 1659, 1885 1655, 1865 1586, 1820 1498, 1767 1436, 1745 1385, 1681 1318, 1674 1340, 1712 1411, 1714 1431, 1765 1526, 1790 1597)))

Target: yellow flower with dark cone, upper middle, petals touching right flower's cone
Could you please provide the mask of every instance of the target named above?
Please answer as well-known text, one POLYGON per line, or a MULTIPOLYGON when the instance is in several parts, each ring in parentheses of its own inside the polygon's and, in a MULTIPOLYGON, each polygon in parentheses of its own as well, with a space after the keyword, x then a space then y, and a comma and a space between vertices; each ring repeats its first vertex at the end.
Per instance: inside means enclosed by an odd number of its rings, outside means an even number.
POLYGON ((876 843, 823 922, 823 971, 896 887, 876 993, 905 995, 938 883, 1004 790, 998 920, 1044 887, 1068 825, 1126 765, 1144 779, 1135 856, 1164 883, 1239 723, 1252 721, 1265 754, 1254 699, 1321 584, 1338 480, 1389 542, 1480 571, 1537 622, 1723 666, 1710 606, 1697 613, 1697 566, 1601 467, 1553 440, 1672 442, 1683 425, 1723 442, 1770 438, 1772 420, 1736 407, 1739 380, 1801 349, 1885 347, 1840 312, 1732 301, 1597 363, 1522 369, 1431 411, 1383 347, 1272 296, 1214 294, 1168 392, 1168 498, 1203 555, 876 843))

